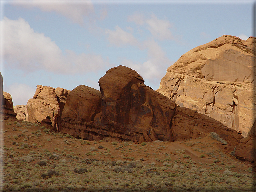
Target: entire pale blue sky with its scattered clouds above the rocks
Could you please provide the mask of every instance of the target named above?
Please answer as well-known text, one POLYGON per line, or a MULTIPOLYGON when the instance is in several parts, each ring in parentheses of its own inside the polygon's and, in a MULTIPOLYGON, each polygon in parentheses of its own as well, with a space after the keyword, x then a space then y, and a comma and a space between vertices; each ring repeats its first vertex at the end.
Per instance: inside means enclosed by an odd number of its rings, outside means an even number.
POLYGON ((252 36, 254 1, 0 2, 0 71, 14 105, 26 104, 39 84, 99 90, 98 80, 118 65, 156 90, 192 48, 224 34, 252 36))

